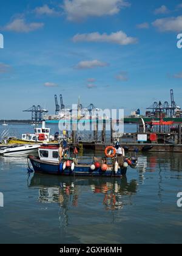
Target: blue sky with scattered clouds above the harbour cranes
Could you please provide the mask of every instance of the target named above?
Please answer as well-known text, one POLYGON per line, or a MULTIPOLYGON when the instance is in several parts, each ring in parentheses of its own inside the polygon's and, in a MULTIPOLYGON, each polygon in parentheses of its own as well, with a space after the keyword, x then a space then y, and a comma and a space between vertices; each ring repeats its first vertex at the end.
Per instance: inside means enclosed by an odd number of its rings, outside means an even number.
POLYGON ((34 104, 137 108, 182 105, 182 1, 1 1, 0 119, 30 118, 34 104))

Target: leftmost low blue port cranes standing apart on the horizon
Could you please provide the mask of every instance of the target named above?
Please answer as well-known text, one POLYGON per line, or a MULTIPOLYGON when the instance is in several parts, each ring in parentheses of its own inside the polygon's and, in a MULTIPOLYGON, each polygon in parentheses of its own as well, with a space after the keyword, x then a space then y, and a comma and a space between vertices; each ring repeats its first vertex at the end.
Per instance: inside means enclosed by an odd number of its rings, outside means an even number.
POLYGON ((44 113, 48 113, 48 110, 42 108, 40 105, 33 105, 23 112, 32 112, 32 122, 40 123, 44 119, 44 113))

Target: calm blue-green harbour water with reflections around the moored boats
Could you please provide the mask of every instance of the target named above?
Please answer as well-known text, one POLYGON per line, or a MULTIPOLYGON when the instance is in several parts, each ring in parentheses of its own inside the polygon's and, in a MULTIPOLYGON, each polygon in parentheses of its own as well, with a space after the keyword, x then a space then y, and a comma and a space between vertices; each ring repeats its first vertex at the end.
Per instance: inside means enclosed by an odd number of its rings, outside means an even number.
POLYGON ((181 154, 138 157, 127 179, 29 176, 26 158, 0 157, 0 243, 181 243, 181 154))

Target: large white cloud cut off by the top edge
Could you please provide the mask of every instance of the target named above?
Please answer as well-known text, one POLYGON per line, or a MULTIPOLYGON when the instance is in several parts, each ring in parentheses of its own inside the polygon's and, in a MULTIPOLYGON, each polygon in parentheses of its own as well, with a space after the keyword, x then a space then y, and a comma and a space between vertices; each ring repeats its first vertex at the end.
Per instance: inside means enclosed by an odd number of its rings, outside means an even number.
POLYGON ((126 0, 64 0, 62 8, 70 21, 89 16, 115 15, 130 4, 126 0))

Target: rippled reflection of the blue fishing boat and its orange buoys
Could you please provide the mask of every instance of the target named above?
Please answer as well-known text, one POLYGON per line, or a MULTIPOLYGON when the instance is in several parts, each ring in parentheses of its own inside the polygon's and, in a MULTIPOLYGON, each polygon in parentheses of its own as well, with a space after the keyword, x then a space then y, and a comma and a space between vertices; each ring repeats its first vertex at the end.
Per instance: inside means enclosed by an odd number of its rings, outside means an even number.
POLYGON ((99 194, 102 195, 99 203, 106 210, 118 210, 132 204, 132 194, 136 193, 138 183, 136 180, 127 182, 126 177, 74 178, 34 174, 29 187, 39 189, 38 201, 42 203, 58 203, 62 208, 76 207, 79 199, 83 205, 83 198, 89 196, 89 200, 94 200, 93 195, 99 194))

